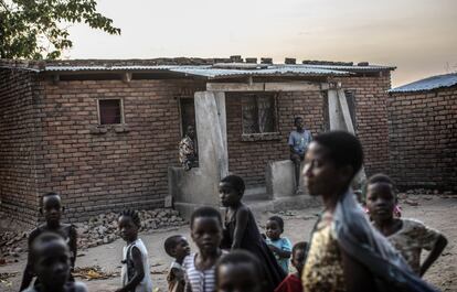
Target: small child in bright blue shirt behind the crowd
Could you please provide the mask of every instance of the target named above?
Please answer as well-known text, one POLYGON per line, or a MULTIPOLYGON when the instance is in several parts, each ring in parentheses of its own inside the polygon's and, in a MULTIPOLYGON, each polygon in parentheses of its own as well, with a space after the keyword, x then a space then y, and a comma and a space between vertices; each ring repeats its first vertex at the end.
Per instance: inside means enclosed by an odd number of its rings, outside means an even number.
POLYGON ((266 242, 275 255, 276 260, 283 270, 289 272, 289 259, 291 251, 290 240, 286 237, 280 237, 284 232, 284 220, 279 216, 272 216, 266 224, 266 242))

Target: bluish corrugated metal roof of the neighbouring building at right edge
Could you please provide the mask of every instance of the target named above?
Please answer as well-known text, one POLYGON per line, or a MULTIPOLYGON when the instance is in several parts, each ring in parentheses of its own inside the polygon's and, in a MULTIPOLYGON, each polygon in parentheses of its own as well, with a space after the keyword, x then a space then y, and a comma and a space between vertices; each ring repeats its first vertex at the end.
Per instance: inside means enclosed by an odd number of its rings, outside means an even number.
POLYGON ((457 73, 432 76, 389 90, 389 93, 425 91, 457 85, 457 73))

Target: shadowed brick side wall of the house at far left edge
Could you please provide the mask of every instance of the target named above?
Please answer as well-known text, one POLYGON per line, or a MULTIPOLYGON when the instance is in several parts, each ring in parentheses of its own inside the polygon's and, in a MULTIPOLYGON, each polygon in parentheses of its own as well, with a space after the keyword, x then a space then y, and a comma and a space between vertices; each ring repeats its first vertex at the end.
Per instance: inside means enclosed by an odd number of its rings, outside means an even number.
POLYGON ((1 210, 17 221, 33 224, 39 201, 34 133, 39 131, 36 74, 0 68, 1 210))

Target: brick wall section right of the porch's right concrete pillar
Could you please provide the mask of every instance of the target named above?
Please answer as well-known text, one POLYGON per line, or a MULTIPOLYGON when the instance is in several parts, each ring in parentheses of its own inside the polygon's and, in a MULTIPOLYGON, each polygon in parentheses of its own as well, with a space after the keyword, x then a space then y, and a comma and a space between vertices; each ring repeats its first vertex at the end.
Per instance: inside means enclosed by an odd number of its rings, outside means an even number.
POLYGON ((391 88, 391 75, 334 78, 344 90, 352 91, 355 100, 355 133, 363 145, 366 175, 389 169, 389 126, 386 90, 391 88))

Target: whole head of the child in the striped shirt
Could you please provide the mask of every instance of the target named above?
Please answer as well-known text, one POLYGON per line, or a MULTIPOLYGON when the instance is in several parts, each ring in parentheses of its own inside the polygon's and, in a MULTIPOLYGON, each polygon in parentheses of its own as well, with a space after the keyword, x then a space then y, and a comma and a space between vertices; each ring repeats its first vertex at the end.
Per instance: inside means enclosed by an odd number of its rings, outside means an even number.
POLYGON ((213 207, 195 209, 190 219, 191 237, 200 252, 217 251, 222 240, 222 217, 213 207))

